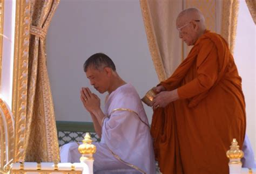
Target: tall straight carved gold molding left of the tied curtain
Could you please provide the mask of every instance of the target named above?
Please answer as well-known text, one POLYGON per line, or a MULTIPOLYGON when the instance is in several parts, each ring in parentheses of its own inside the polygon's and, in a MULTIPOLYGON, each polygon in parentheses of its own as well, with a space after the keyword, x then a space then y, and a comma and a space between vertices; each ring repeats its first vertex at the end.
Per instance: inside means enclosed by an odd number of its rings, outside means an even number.
POLYGON ((24 162, 25 157, 29 31, 30 1, 16 1, 14 79, 12 87, 12 114, 15 118, 14 162, 24 162))

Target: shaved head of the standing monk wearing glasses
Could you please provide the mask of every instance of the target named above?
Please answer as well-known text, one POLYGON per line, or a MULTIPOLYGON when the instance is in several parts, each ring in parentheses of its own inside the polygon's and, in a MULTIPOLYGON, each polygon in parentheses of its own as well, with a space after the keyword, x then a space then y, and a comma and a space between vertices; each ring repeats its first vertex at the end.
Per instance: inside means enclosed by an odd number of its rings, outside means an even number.
POLYGON ((197 8, 188 8, 181 11, 176 19, 179 37, 187 45, 194 45, 197 39, 205 32, 205 18, 197 8))

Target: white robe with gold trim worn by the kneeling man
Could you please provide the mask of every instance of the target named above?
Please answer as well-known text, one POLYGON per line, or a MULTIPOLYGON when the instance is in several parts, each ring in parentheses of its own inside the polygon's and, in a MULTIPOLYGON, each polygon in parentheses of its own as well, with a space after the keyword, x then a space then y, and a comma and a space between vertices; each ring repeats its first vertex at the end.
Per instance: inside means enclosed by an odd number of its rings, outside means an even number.
MULTIPOLYGON (((101 141, 94 143, 97 150, 93 170, 156 173, 149 123, 136 89, 125 84, 113 91, 106 99, 104 114, 101 141)), ((61 161, 79 162, 77 147, 77 143, 64 145, 60 150, 61 161)))

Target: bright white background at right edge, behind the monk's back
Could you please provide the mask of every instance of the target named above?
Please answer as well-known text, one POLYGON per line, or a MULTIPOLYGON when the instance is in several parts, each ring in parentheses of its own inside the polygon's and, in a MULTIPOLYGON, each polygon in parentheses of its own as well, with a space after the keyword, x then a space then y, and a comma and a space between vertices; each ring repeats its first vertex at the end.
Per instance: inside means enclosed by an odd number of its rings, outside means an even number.
POLYGON ((242 78, 242 91, 244 92, 246 103, 246 133, 252 143, 254 155, 256 155, 255 40, 255 24, 245 1, 240 1, 234 59, 235 64, 237 64, 238 67, 239 75, 242 78))

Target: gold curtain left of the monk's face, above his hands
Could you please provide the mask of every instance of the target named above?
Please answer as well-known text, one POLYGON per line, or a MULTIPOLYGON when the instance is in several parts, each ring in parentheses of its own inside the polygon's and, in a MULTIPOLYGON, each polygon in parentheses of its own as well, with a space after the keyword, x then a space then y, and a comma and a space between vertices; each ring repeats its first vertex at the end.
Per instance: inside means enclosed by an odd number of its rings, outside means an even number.
POLYGON ((182 43, 176 29, 176 17, 183 1, 140 0, 147 42, 160 81, 169 77, 183 57, 182 43))

